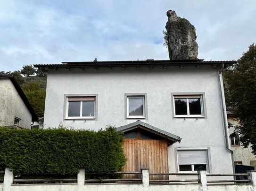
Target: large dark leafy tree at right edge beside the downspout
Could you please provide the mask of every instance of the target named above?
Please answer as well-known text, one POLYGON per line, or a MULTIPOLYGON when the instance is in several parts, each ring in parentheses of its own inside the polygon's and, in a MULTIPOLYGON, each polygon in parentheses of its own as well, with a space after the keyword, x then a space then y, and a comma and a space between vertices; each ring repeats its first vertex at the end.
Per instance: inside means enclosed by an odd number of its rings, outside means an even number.
POLYGON ((256 155, 256 44, 249 46, 238 63, 223 73, 227 105, 236 109, 237 133, 244 147, 256 155))

